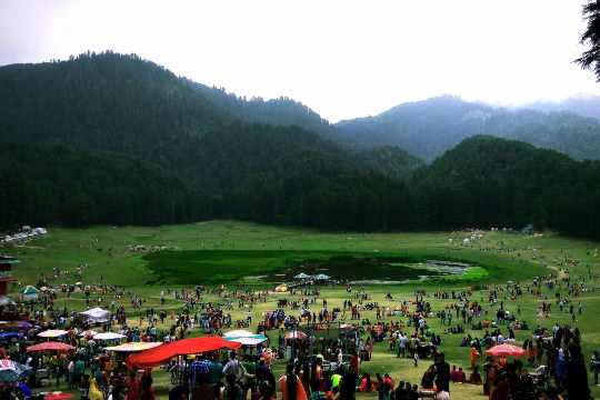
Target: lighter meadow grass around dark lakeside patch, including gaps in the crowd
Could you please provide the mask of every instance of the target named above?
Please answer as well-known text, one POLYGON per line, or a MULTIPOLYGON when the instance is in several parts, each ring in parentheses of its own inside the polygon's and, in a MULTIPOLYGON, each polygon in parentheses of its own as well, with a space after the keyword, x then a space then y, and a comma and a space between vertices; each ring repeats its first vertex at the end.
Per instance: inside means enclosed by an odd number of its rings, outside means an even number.
MULTIPOLYGON (((486 238, 470 249, 451 244, 448 239, 454 238, 454 243, 466 233, 398 233, 398 234, 357 234, 357 233, 319 233, 300 229, 280 229, 273 227, 262 227, 241 222, 203 222, 178 227, 159 228, 110 228, 98 227, 88 230, 64 230, 51 229, 50 237, 28 243, 27 247, 8 249, 6 252, 13 253, 21 258, 22 263, 18 267, 18 276, 24 283, 32 283, 40 273, 49 274, 52 267, 59 269, 73 270, 79 263, 88 262, 90 268, 84 272, 84 282, 96 282, 100 276, 109 282, 130 286, 132 290, 147 299, 147 308, 159 308, 160 289, 157 287, 143 286, 143 282, 151 279, 148 277, 148 268, 142 254, 126 251, 127 244, 157 244, 171 246, 178 249, 298 249, 298 250, 342 250, 342 251, 403 251, 403 252, 442 252, 448 257, 478 259, 484 257, 489 262, 496 262, 504 267, 497 271, 496 278, 499 281, 508 279, 516 280, 523 271, 519 269, 519 260, 529 260, 538 266, 550 266, 551 268, 562 268, 566 259, 577 259, 577 266, 570 266, 572 276, 583 274, 590 268, 593 273, 600 272, 600 260, 593 257, 593 249, 600 249, 600 243, 574 240, 553 234, 539 238, 507 234, 488 233, 486 238), (111 250, 109 250, 111 249, 111 250), (508 268, 506 268, 508 267, 508 268)), ((6 250, 6 249, 4 249, 6 250)), ((522 276, 522 274, 521 274, 522 276)), ((67 280, 69 280, 68 278, 67 280)), ((597 280, 589 281, 591 287, 598 286, 597 280)), ((446 287, 440 284, 440 287, 446 287)), ((437 286, 428 289, 436 290, 437 286)), ((384 294, 391 291, 396 299, 412 299, 413 288, 373 286, 368 289, 373 296, 373 300, 381 304, 390 303, 384 300, 384 294)), ((546 291, 548 298, 552 298, 553 292, 546 291)), ((340 304, 347 298, 343 289, 327 289, 323 297, 330 300, 331 306, 340 304)), ((483 291, 477 292, 476 300, 484 300, 483 291)), ((219 299, 207 298, 207 300, 219 301, 219 299)), ((254 314, 260 316, 263 311, 274 307, 276 298, 270 298, 268 303, 259 304, 254 309, 254 314)), ((440 309, 449 304, 452 300, 428 299, 433 303, 434 309, 440 309)), ((104 302, 110 299, 103 299, 104 302)), ((568 313, 554 310, 551 318, 538 319, 536 308, 542 301, 526 294, 521 300, 522 317, 531 326, 540 323, 551 327, 554 321, 567 323, 570 321, 568 313)), ((592 350, 600 348, 600 324, 597 319, 597 311, 600 310, 600 296, 597 291, 584 293, 576 301, 583 304, 583 316, 577 326, 582 331, 583 349, 589 357, 592 350)), ((486 301, 483 301, 487 304, 486 301)), ((57 306, 68 306, 70 309, 83 310, 84 302, 81 296, 67 300, 60 297, 57 306)), ((392 303, 390 303, 392 304, 392 303)), ((514 311, 516 303, 504 301, 509 310, 514 311)), ((104 303, 104 307, 108 303, 104 303)), ((126 304, 127 306, 127 304, 126 304)), ((176 300, 168 300, 166 309, 179 309, 181 303, 176 300)), ((493 312, 493 308, 489 308, 493 312)), ((236 309, 233 318, 242 318, 242 310, 236 309)), ((129 316, 134 316, 128 307, 129 316)), ((366 313, 367 318, 374 319, 371 313, 366 313)), ((134 318, 134 317, 133 317, 134 318)), ((441 330, 436 319, 430 320, 433 329, 441 330)), ((472 332, 480 336, 481 332, 472 332)), ((194 331, 192 334, 199 334, 194 331)), ((519 332, 518 339, 522 339, 529 332, 519 332)), ((442 334, 443 350, 451 363, 468 367, 468 351, 458 347, 461 336, 442 334)), ((423 360, 418 369, 413 369, 408 360, 397 360, 386 351, 384 344, 380 346, 376 352, 376 359, 366 363, 364 368, 370 372, 392 372, 396 379, 404 379, 416 382, 420 379, 422 371, 429 361, 423 360)), ((283 367, 278 364, 277 371, 283 367)), ((164 388, 168 387, 167 377, 157 374, 157 382, 164 388)), ((161 391, 163 393, 164 390, 161 391)), ((453 397, 462 399, 481 399, 480 388, 471 386, 453 386, 453 397)), ((600 394, 593 388, 593 394, 600 394)))

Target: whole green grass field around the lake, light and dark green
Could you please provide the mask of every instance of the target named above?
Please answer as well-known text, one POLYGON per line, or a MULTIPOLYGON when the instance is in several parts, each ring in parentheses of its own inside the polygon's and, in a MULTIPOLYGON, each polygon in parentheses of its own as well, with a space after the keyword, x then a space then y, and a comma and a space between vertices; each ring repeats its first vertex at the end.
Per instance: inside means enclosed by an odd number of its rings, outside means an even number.
MULTIPOLYGON (((72 283, 111 283, 127 287, 146 299, 144 308, 160 308, 160 291, 166 287, 177 287, 192 283, 198 277, 207 277, 204 283, 216 283, 221 280, 238 282, 247 276, 267 274, 273 271, 284 271, 290 262, 327 259, 332 254, 361 254, 363 258, 399 257, 404 260, 449 260, 462 261, 479 269, 467 273, 468 280, 447 279, 446 281, 429 281, 410 284, 373 284, 366 290, 382 306, 391 306, 399 300, 413 299, 417 287, 424 288, 429 293, 438 289, 462 289, 470 287, 483 288, 490 283, 506 283, 509 280, 528 282, 534 276, 558 273, 566 269, 572 278, 586 277, 590 290, 583 292, 576 302, 581 301, 583 313, 574 324, 582 331, 583 350, 589 357, 592 350, 600 349, 600 321, 597 312, 600 310, 600 296, 596 291, 597 278, 589 278, 600 272, 600 259, 597 249, 600 243, 586 240, 564 238, 552 233, 543 236, 523 236, 502 232, 483 232, 480 240, 463 246, 468 232, 436 232, 436 233, 354 233, 354 232, 318 232, 306 229, 276 228, 234 221, 210 221, 186 226, 167 226, 154 228, 140 227, 96 227, 90 229, 50 229, 47 238, 30 241, 21 247, 4 248, 1 251, 18 257, 21 263, 16 268, 16 274, 21 284, 36 283, 40 277, 46 277, 51 284, 72 283), (450 241, 452 239, 452 241, 450 241), (143 251, 133 251, 131 246, 142 244, 147 248, 163 247, 167 252, 146 256, 143 251), (372 256, 371 256, 372 254, 372 256), (77 274, 80 264, 88 264, 82 277, 77 274), (59 271, 52 278, 53 268, 59 271), (484 270, 486 273, 482 273, 484 270), (193 280, 190 278, 193 276, 193 280), (160 284, 148 284, 162 282, 160 284), (393 301, 386 300, 386 293, 391 292, 393 301)), ((582 279, 582 278, 581 278, 582 279)), ((244 283, 247 281, 243 281, 244 283)), ((267 283, 261 283, 262 286, 267 283)), ((16 287, 13 288, 17 289, 16 287)), ((484 290, 476 290, 474 300, 487 304, 484 290)), ((288 296, 288 294, 286 294, 288 296)), ((501 294, 506 296, 506 294, 501 294)), ((553 291, 546 290, 548 299, 553 291)), ((280 297, 280 296, 279 296, 280 297)), ((257 318, 276 307, 277 294, 270 296, 267 303, 253 309, 257 318)), ((290 297, 290 296, 288 296, 290 297)), ((331 306, 341 306, 347 298, 344 288, 326 288, 322 297, 331 306)), ((107 306, 111 299, 102 299, 107 306)), ((208 301, 218 300, 207 297, 208 301)), ((440 309, 452 300, 428 298, 433 309, 440 309)), ((504 304, 516 311, 517 302, 504 298, 504 304)), ((568 312, 552 309, 548 319, 537 317, 537 307, 543 300, 524 294, 519 299, 522 319, 530 327, 541 324, 550 328, 554 321, 568 323, 568 312)), ((84 301, 81 296, 67 299, 60 294, 58 307, 83 310, 84 301)), ((128 307, 128 312, 134 319, 134 313, 128 307)), ((169 299, 166 309, 180 309, 182 304, 169 299)), ((489 308, 490 317, 494 309, 489 308)), ((242 318, 244 310, 236 309, 233 319, 242 318)), ((374 320, 373 312, 363 317, 374 320)), ((394 318, 398 320, 398 318, 394 318)), ((442 327, 437 319, 430 319, 430 324, 437 332, 442 327)), ((200 334, 193 331, 192 334, 200 334)), ((481 336, 481 331, 472 331, 481 336)), ((529 331, 518 331, 518 342, 521 342, 529 331)), ((458 344, 462 336, 441 334, 442 349, 450 363, 468 367, 468 350, 458 344)), ((370 372, 391 372, 398 380, 418 382, 429 361, 423 360, 419 368, 412 368, 410 361, 396 359, 386 350, 387 344, 376 349, 373 361, 363 364, 370 372)), ((283 366, 277 366, 281 371, 283 366)), ((166 393, 168 377, 158 373, 156 377, 159 392, 166 393)), ((481 399, 481 388, 467 384, 454 384, 452 396, 462 399, 481 399)), ((593 394, 600 394, 596 388, 593 394)))

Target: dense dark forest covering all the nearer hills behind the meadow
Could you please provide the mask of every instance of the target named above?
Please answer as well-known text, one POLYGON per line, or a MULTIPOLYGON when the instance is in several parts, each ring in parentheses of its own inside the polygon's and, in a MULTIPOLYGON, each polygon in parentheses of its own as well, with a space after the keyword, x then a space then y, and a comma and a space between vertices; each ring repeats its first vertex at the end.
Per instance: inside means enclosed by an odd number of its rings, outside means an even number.
MULTIPOLYGON (((136 56, 2 67, 0 104, 4 228, 236 218, 370 231, 534 223, 600 237, 598 161, 459 134, 426 164, 398 147, 356 147, 290 99, 246 100, 136 56)), ((582 141, 596 134, 586 121, 582 141)), ((404 129, 418 136, 419 123, 404 129)))

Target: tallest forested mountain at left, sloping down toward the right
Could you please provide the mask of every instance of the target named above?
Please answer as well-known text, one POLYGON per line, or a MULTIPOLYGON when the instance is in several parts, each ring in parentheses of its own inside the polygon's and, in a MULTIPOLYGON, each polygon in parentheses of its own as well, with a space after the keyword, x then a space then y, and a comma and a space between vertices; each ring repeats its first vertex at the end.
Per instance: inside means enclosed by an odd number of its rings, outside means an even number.
MULTIPOLYGON (((382 207, 374 202, 388 198, 390 188, 402 183, 382 174, 377 158, 341 149, 300 127, 247 123, 254 118, 241 116, 212 94, 136 56, 111 52, 0 68, 0 142, 17 143, 10 148, 20 154, 18 159, 1 159, 1 164, 7 174, 22 171, 12 179, 21 182, 19 190, 0 189, 0 207, 14 210, 12 204, 23 197, 30 204, 40 204, 44 197, 73 196, 77 201, 72 201, 89 209, 83 218, 68 216, 60 207, 18 208, 18 212, 4 214, 0 226, 29 218, 51 223, 240 218, 323 228, 386 226, 382 207), (30 144, 60 144, 71 152, 63 160, 66 164, 47 168, 61 151, 33 148, 34 158, 27 163, 24 154, 30 144), (77 151, 81 157, 73 156, 77 151), (179 197, 181 192, 184 201, 178 202, 177 212, 171 207, 157 217, 127 196, 116 196, 121 199, 114 200, 121 201, 121 210, 113 216, 111 203, 97 199, 84 172, 67 173, 69 169, 86 171, 87 157, 107 164, 116 157, 116 166, 122 166, 119 173, 109 171, 101 177, 101 182, 116 180, 116 192, 124 182, 136 182, 131 192, 137 192, 140 201, 147 194, 156 197, 153 187, 137 179, 134 169, 128 176, 129 168, 122 161, 127 159, 160 171, 159 182, 182 182, 178 190, 164 186, 164 196, 171 191, 179 197), (48 184, 44 192, 36 190, 36 182, 43 186, 53 176, 56 184, 48 184), (79 184, 80 180, 86 183, 79 184), (63 184, 69 181, 73 184, 63 184), (130 212, 133 208, 139 212, 130 212)), ((256 116, 262 106, 251 103, 256 116)), ((289 108, 297 109, 298 104, 290 103, 289 108)), ((393 154, 388 154, 386 162, 393 166, 393 174, 404 173, 400 171, 404 161, 394 162, 393 154)), ((407 168, 414 167, 407 163, 407 168)), ((110 184, 108 189, 112 193, 110 184)), ((161 197, 156 198, 164 204, 161 197)))

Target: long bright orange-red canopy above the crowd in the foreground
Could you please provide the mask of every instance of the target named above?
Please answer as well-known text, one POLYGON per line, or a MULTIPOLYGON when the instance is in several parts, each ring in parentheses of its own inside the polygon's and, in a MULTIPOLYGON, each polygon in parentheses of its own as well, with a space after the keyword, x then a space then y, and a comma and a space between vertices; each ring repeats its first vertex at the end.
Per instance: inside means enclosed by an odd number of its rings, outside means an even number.
POLYGON ((221 337, 182 339, 166 343, 127 358, 129 368, 150 368, 163 364, 173 357, 198 354, 220 349, 237 349, 241 343, 224 340, 221 337))

